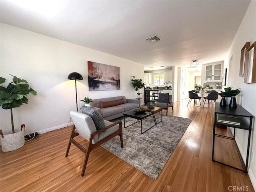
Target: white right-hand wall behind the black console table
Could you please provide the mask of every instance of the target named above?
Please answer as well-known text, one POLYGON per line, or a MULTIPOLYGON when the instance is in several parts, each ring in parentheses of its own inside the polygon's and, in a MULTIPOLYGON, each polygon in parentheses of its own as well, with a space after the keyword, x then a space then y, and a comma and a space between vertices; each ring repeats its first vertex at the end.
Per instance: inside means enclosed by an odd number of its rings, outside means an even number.
MULTIPOLYGON (((256 83, 244 84, 244 77, 239 77, 240 53, 246 42, 251 44, 256 41, 256 1, 251 1, 250 6, 240 24, 238 32, 225 58, 224 68, 228 68, 227 86, 234 89, 241 88, 240 96, 236 96, 238 104, 245 108, 254 116, 254 126, 252 130, 250 144, 250 160, 248 174, 256 190, 256 83), (230 58, 232 58, 230 60, 230 58), (254 152, 254 157, 252 154, 254 152)), ((248 131, 236 129, 236 141, 243 158, 246 157, 248 131)))

